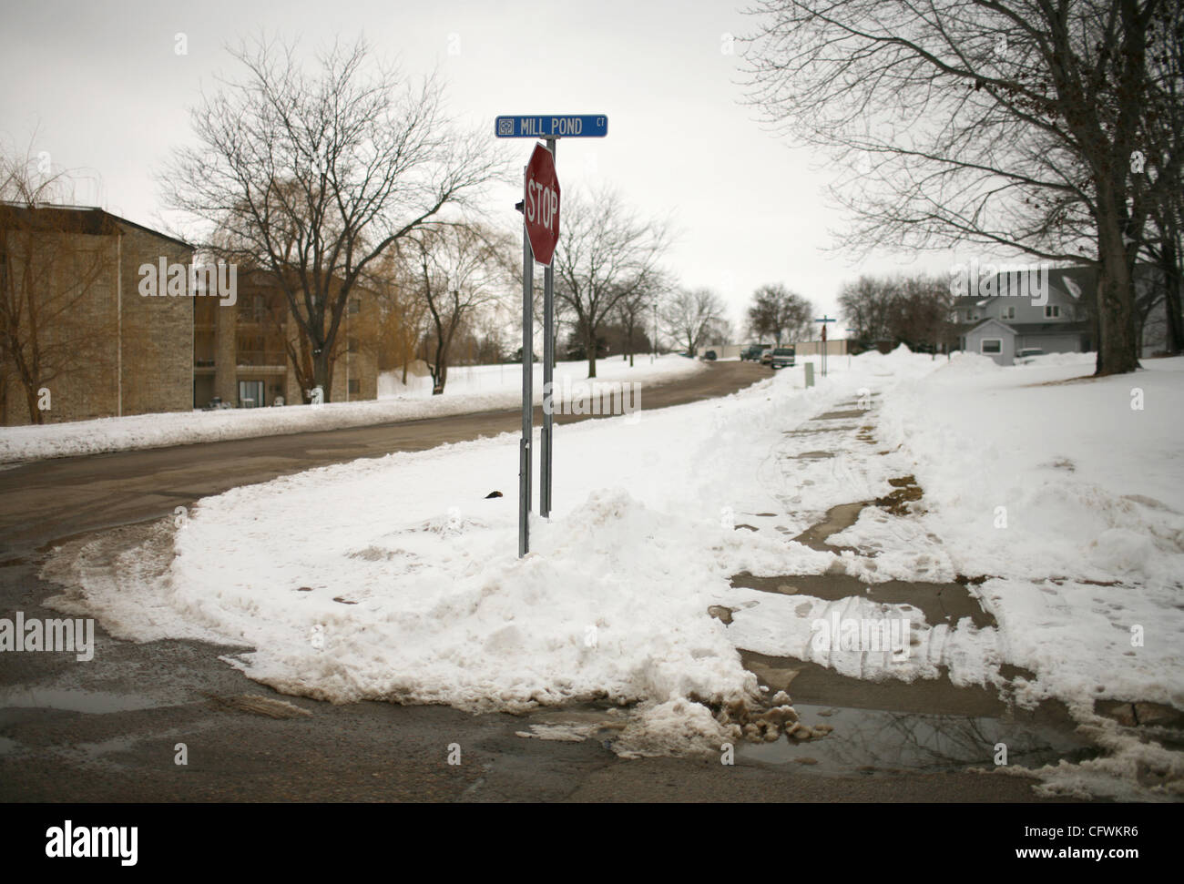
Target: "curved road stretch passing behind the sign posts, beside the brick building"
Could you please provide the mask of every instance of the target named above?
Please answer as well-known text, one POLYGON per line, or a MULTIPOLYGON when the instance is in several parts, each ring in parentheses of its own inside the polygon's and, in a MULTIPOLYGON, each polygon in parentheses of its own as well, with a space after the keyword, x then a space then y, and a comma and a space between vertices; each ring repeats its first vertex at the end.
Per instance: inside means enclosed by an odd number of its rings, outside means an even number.
MULTIPOLYGON (((772 374, 751 362, 707 370, 642 391, 643 411, 728 395, 772 374)), ((535 425, 542 409, 535 408, 535 425)), ((556 424, 588 420, 556 414, 556 424)), ((521 409, 456 414, 368 427, 178 445, 114 454, 38 460, 0 471, 0 559, 21 547, 168 515, 175 506, 238 485, 392 451, 516 432, 521 409)))

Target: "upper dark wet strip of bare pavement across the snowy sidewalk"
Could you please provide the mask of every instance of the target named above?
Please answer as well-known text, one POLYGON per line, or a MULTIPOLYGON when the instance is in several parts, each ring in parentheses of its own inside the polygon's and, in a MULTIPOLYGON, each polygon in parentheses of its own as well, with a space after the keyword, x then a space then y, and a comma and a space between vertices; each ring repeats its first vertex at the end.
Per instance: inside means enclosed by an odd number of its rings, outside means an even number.
MULTIPOLYGON (((828 547, 835 549, 835 547, 828 547)), ((839 601, 860 595, 888 605, 912 605, 925 615, 929 626, 954 625, 964 617, 978 628, 998 626, 995 617, 978 604, 970 589, 961 583, 925 583, 889 580, 867 583, 850 574, 803 574, 793 576, 754 577, 741 572, 732 577, 733 587, 747 587, 762 593, 781 595, 812 595, 826 601, 839 601)))

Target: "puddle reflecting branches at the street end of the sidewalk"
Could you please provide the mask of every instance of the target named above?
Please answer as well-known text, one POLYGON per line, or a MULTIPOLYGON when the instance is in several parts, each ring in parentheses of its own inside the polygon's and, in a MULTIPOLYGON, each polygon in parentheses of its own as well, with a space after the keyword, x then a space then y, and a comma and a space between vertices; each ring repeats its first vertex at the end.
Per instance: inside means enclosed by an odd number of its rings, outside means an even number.
POLYGON ((824 737, 797 742, 741 743, 736 755, 772 764, 797 763, 818 773, 875 774, 901 770, 957 770, 995 767, 996 747, 1006 746, 1008 763, 1040 767, 1061 759, 1098 755, 1068 730, 1015 718, 925 715, 881 709, 794 703, 802 722, 828 724, 824 737))

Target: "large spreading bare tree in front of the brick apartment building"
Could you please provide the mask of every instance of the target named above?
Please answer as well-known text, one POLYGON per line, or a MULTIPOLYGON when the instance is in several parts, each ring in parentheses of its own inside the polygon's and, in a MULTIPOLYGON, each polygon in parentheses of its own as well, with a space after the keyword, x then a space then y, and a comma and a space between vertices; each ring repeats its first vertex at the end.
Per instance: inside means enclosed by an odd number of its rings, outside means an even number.
POLYGON ((377 65, 362 40, 334 46, 307 75, 295 46, 257 40, 232 54, 242 82, 193 111, 198 148, 165 174, 169 202, 220 226, 211 247, 282 285, 313 375, 332 391, 332 354, 350 293, 392 244, 465 204, 503 169, 489 138, 445 116, 435 77, 377 65))

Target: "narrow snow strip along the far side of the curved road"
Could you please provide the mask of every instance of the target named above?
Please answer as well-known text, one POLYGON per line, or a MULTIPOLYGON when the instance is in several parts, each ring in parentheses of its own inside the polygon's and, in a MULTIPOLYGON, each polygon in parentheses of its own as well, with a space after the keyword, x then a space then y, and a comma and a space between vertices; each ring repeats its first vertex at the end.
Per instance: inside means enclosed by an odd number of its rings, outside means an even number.
MULTIPOLYGON (((620 359, 606 359, 597 362, 597 380, 664 383, 704 369, 702 362, 677 355, 659 356, 654 363, 649 356, 638 356, 632 368, 620 359)), ((556 396, 564 391, 565 379, 580 381, 586 378, 587 362, 560 362, 555 367, 556 396)), ((431 394, 430 378, 408 378, 407 387, 401 387, 394 378, 385 374, 382 388, 386 395, 360 402, 167 412, 44 426, 0 427, 0 463, 247 439, 276 433, 340 430, 394 420, 513 408, 522 402, 522 373, 520 366, 511 364, 452 368, 445 392, 439 396, 431 394)), ((534 367, 534 399, 535 402, 542 401, 541 363, 534 367)))

